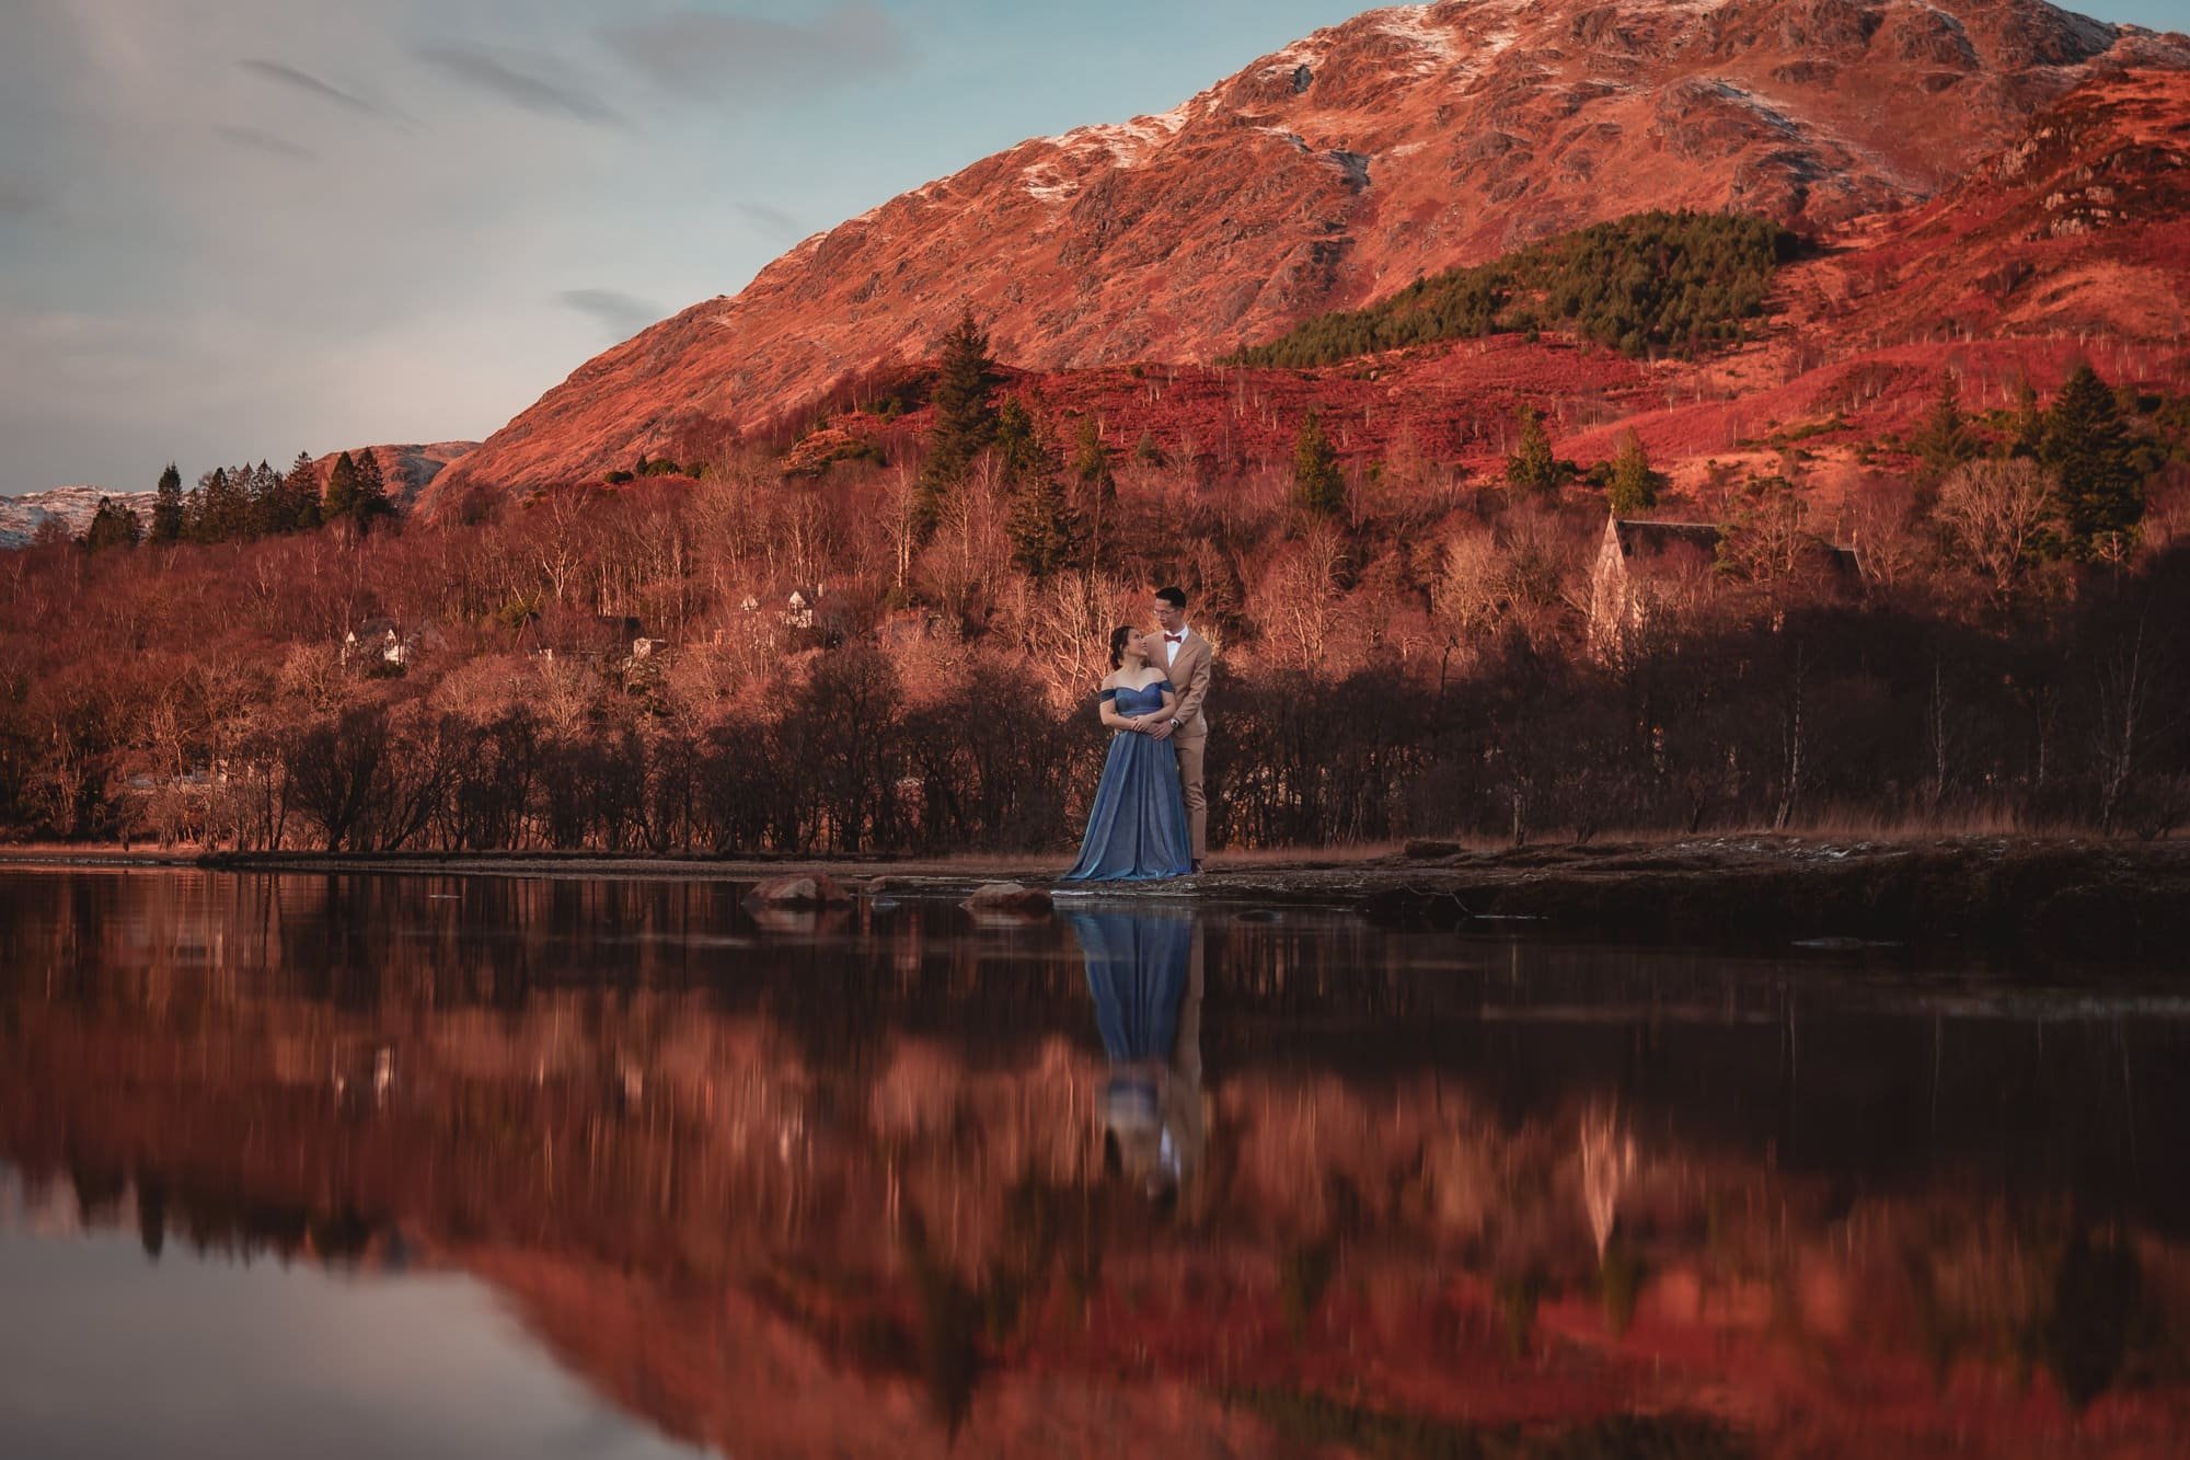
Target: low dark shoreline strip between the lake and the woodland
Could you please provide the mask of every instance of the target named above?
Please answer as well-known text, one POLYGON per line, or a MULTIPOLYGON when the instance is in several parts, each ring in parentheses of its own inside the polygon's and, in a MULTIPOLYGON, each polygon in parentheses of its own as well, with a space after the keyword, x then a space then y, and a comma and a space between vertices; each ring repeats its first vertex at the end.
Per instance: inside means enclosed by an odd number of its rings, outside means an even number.
MULTIPOLYGON (((1053 888, 1042 859, 653 857, 637 853, 120 853, 0 851, 0 868, 199 868, 291 875, 762 881, 826 872, 850 892, 966 897, 1053 888)), ((1715 949, 1807 949, 1982 962, 2181 967, 2190 842, 2096 837, 1684 837, 1469 851, 1257 855, 1104 899, 1316 905, 1382 923, 1715 949)))

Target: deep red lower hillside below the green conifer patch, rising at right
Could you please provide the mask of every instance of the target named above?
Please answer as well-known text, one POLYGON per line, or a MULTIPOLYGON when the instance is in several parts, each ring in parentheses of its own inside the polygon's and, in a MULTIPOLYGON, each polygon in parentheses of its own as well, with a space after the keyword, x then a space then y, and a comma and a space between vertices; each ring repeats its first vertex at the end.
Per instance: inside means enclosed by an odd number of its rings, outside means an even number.
MULTIPOLYGON (((1093 417, 1123 471, 1137 445, 1200 482, 1286 471, 1318 410, 1342 460, 1406 482, 1502 471, 1515 412, 1546 417, 1583 465, 1634 427, 1686 491, 1713 465, 1780 469, 1831 506, 1875 474, 1881 436, 1929 408, 1940 373, 1971 408, 2024 384, 2054 390, 2076 360, 2107 379, 2190 386, 2190 70, 2100 75, 2041 107, 2024 134, 1938 199, 1833 230, 1780 267, 1770 316, 1695 360, 1629 360, 1570 333, 1426 344, 1327 368, 1211 364, 1007 370, 1045 421, 1093 417), (2096 191, 2096 193, 2094 193, 2096 191)), ((926 408, 815 410, 786 469, 830 454, 900 454, 926 408)), ((1069 436, 1069 430, 1067 430, 1069 436)))

